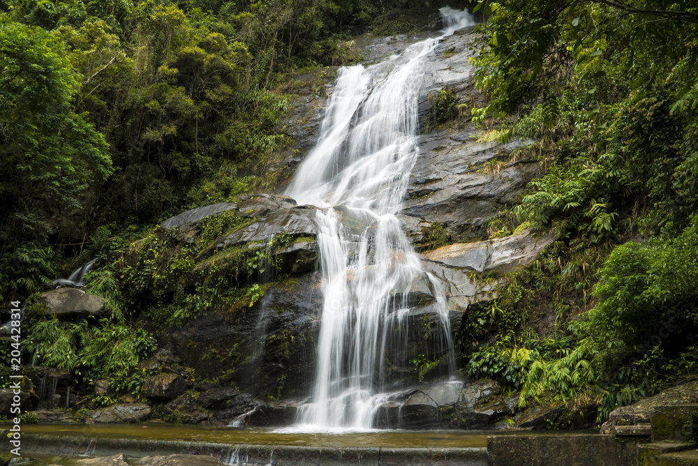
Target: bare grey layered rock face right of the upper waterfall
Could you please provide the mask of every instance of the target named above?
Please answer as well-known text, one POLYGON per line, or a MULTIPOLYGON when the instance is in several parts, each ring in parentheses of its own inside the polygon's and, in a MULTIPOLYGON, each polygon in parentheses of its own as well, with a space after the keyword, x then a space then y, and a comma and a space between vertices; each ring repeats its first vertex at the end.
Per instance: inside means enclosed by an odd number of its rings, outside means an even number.
MULTIPOLYGON (((473 86, 468 64, 469 44, 474 40, 472 28, 456 31, 436 47, 426 61, 426 78, 419 95, 419 118, 425 133, 419 140, 419 156, 415 162, 403 213, 419 222, 436 222, 456 241, 482 234, 481 227, 496 215, 498 209, 511 205, 523 192, 526 182, 539 168, 537 163, 512 161, 500 165, 498 172, 488 173, 483 164, 507 158, 523 142, 507 144, 479 140, 480 130, 468 123, 470 109, 482 107, 484 96, 473 86), (466 114, 450 128, 430 128, 430 96, 449 89, 454 105, 463 105, 466 114)), ((419 230, 409 231, 419 236, 419 230)))

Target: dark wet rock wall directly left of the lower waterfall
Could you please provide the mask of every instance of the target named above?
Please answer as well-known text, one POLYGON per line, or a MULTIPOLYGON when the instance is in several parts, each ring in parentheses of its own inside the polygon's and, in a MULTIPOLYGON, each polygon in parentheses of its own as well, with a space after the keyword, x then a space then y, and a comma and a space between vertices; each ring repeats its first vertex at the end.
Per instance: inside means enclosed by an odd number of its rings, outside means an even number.
POLYGON ((320 277, 313 272, 272 283, 253 306, 200 315, 173 331, 166 345, 202 377, 259 398, 304 396, 315 366, 320 277))

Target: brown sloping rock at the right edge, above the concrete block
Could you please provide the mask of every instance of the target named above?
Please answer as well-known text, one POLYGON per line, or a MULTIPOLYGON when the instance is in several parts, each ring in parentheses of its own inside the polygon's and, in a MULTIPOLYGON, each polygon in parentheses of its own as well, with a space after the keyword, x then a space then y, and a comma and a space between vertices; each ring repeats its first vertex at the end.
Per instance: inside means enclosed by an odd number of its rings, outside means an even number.
POLYGON ((675 386, 650 398, 639 400, 634 405, 614 409, 609 414, 608 421, 601 426, 601 433, 614 433, 615 426, 637 426, 637 424, 649 423, 652 414, 664 406, 695 403, 698 403, 698 381, 675 386))

